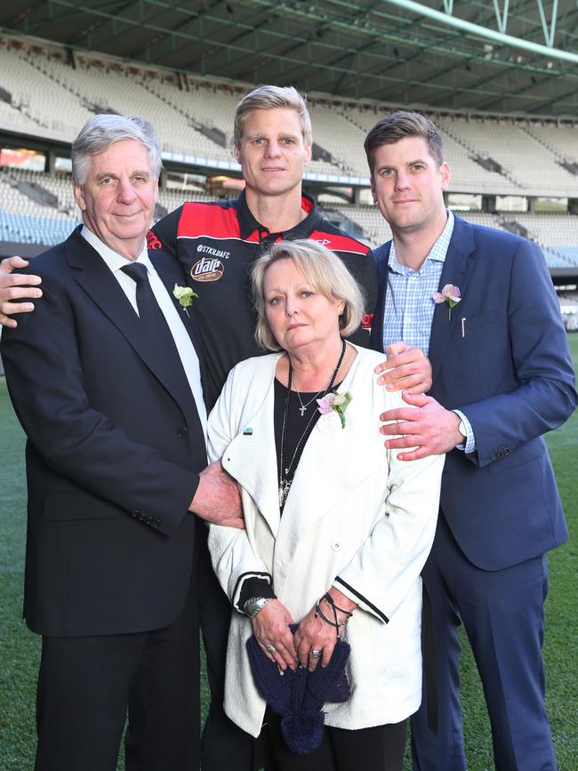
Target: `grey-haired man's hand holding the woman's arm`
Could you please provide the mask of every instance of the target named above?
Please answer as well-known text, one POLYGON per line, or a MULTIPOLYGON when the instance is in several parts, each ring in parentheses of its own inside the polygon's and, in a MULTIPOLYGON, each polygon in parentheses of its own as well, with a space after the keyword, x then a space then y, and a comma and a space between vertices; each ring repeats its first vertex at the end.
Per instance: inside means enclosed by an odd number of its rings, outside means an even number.
POLYGON ((223 469, 221 461, 211 463, 199 474, 189 511, 213 525, 245 528, 239 486, 223 469))

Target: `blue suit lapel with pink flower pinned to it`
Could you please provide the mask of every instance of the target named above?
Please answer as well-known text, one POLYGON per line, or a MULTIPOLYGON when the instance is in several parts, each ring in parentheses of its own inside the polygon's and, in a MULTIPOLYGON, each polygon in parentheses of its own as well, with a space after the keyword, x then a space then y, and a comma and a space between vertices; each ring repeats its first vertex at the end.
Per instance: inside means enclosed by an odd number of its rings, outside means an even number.
POLYGON ((464 303, 467 302, 467 286, 470 280, 471 270, 475 264, 476 243, 474 241, 471 226, 455 217, 454 232, 447 249, 446 261, 439 280, 438 291, 446 284, 457 286, 462 293, 462 301, 459 302, 451 315, 448 314, 446 302, 440 302, 434 310, 429 336, 429 360, 431 361, 432 379, 435 382, 441 366, 446 346, 454 330, 462 323, 464 303), (449 317, 448 317, 449 316, 449 317))

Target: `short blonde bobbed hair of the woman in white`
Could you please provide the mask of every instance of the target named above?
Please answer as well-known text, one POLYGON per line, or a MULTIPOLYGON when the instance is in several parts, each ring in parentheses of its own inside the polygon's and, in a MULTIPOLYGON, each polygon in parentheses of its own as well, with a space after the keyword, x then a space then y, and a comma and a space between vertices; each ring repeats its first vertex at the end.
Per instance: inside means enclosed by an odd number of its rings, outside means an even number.
POLYGON ((307 283, 328 300, 343 301, 345 307, 339 319, 341 337, 349 337, 356 331, 365 313, 364 292, 337 254, 309 238, 277 241, 268 253, 254 263, 251 271, 253 302, 257 311, 255 340, 261 348, 281 350, 267 320, 264 295, 265 274, 274 262, 280 260, 293 260, 307 283))

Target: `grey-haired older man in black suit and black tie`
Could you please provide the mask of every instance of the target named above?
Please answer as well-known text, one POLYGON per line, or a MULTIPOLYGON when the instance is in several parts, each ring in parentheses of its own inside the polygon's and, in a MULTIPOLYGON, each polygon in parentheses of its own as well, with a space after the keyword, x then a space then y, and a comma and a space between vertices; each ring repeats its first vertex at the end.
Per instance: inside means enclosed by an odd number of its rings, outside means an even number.
POLYGON ((140 118, 95 116, 72 148, 84 220, 36 258, 44 300, 4 330, 28 436, 24 614, 43 636, 36 771, 199 767, 200 518, 242 526, 205 468, 202 357, 148 253, 160 151, 140 118))

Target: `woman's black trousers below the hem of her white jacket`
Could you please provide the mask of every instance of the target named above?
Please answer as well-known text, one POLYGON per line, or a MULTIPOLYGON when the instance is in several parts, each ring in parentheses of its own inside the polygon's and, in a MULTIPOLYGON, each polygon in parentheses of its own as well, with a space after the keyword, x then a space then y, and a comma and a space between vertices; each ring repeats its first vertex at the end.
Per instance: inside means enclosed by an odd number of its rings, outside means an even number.
POLYGON ((317 750, 298 755, 285 744, 281 719, 269 710, 257 740, 265 750, 269 771, 402 771, 406 720, 346 731, 326 726, 317 750))

